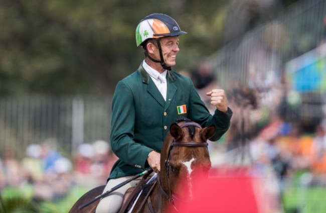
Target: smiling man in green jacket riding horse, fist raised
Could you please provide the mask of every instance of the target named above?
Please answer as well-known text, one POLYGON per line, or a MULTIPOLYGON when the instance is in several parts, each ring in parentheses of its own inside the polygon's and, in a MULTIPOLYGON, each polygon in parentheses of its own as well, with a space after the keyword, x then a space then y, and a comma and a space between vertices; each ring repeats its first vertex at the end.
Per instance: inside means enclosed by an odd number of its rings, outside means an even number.
MULTIPOLYGON (((111 148, 115 163, 104 192, 151 167, 160 170, 160 149, 170 125, 189 118, 203 127, 215 125, 211 140, 218 140, 229 128, 232 111, 224 90, 207 95, 216 106, 212 116, 189 77, 171 67, 176 65, 179 36, 186 34, 177 22, 164 14, 151 14, 136 28, 136 43, 145 54, 139 68, 118 82, 112 101, 111 148)), ((131 181, 101 199, 96 212, 117 212, 131 181)))

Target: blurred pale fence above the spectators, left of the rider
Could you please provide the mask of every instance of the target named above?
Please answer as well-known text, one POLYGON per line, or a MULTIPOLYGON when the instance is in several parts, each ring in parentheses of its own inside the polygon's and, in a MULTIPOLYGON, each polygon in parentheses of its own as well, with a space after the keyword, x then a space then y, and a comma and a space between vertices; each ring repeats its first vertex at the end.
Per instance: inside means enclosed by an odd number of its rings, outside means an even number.
POLYGON ((109 140, 111 97, 2 97, 0 150, 23 157, 32 143, 66 154, 84 142, 109 140))

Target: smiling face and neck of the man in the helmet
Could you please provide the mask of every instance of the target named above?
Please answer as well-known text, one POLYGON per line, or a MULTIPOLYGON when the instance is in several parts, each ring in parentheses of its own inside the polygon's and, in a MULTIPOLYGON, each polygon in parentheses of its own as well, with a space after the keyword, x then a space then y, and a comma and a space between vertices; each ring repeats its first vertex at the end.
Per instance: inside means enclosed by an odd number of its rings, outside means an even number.
MULTIPOLYGON (((176 56, 180 51, 179 49, 179 37, 178 36, 166 36, 160 39, 160 45, 162 50, 162 55, 164 62, 167 66, 176 65, 176 56)), ((150 57, 155 60, 160 61, 159 50, 156 41, 147 43, 147 51, 150 57)), ((147 58, 148 59, 148 58, 147 58)), ((160 63, 152 62, 151 60, 146 60, 146 63, 159 72, 163 72, 164 69, 161 67, 160 63)))

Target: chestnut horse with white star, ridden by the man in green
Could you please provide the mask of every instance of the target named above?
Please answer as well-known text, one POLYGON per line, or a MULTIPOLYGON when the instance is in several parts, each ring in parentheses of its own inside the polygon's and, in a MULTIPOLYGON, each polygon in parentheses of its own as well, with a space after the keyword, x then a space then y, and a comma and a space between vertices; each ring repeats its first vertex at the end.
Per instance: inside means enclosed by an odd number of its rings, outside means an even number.
MULTIPOLYGON (((207 140, 214 133, 214 126, 202 128, 188 119, 172 124, 161 148, 157 182, 145 205, 136 203, 132 212, 168 212, 178 210, 180 203, 190 201, 193 180, 208 177, 211 161, 207 140)), ((103 189, 104 186, 99 186, 84 194, 69 212, 95 212, 99 200, 81 210, 78 206, 93 198, 94 194, 101 194, 103 189)))

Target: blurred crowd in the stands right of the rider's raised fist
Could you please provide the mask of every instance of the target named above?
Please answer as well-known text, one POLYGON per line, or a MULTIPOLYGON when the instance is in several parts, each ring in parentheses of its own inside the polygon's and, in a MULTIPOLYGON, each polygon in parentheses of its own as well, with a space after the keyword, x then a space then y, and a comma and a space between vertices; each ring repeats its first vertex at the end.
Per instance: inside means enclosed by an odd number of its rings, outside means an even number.
MULTIPOLYGON (((224 88, 233 117, 223 139, 226 146, 222 149, 212 146, 212 157, 229 152, 233 153, 231 161, 249 164, 257 173, 271 168, 281 190, 302 173, 306 174, 302 184, 326 185, 326 111, 322 104, 318 112, 310 113, 311 109, 303 112, 300 94, 290 88, 284 70, 259 72, 254 63, 249 64, 248 70, 246 84, 232 79, 230 88, 224 88), (318 119, 303 120, 309 118, 307 113, 311 117, 318 115, 318 119)), ((200 96, 214 113, 205 93, 218 84, 214 74, 217 71, 208 62, 202 62, 195 72, 181 73, 193 79, 200 96)))

